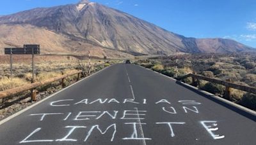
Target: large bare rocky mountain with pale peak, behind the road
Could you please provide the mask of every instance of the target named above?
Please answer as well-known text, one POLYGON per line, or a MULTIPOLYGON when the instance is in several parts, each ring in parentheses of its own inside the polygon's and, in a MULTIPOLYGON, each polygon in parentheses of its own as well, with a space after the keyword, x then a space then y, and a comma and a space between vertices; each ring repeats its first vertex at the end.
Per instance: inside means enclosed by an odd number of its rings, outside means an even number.
MULTIPOLYGON (((119 54, 124 57, 140 53, 168 55, 176 50, 185 53, 252 51, 251 47, 230 39, 186 38, 122 11, 86 0, 78 4, 35 8, 6 15, 0 17, 0 29, 4 27, 12 27, 13 30, 26 27, 25 33, 35 36, 35 29, 46 32, 40 39, 20 38, 20 41, 10 36, 6 40, 4 36, 10 32, 0 32, 1 46, 10 45, 10 43, 13 45, 41 43, 43 52, 79 53, 90 49, 97 50, 95 55, 102 55, 105 51, 104 55, 111 52, 112 55, 119 54)), ((19 34, 12 31, 12 35, 19 34)))

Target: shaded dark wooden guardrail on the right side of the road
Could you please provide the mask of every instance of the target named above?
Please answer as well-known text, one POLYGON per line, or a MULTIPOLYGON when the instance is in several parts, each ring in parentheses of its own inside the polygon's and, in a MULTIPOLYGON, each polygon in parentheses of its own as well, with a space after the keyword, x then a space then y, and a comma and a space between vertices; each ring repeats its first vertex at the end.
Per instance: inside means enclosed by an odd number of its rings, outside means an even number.
POLYGON ((179 78, 177 78, 177 80, 182 80, 185 78, 192 78, 192 85, 198 86, 200 81, 198 81, 199 79, 203 79, 205 81, 209 81, 211 83, 216 83, 216 84, 220 84, 226 87, 225 90, 225 98, 230 100, 230 88, 236 88, 237 90, 243 90, 245 92, 249 92, 249 93, 255 93, 256 94, 256 88, 252 87, 252 86, 244 86, 244 85, 239 85, 236 83, 232 83, 230 82, 230 79, 227 79, 226 81, 222 81, 220 79, 216 79, 216 78, 209 78, 206 76, 200 76, 198 74, 187 74, 185 76, 181 76, 179 78), (197 79, 197 81, 195 80, 197 79))

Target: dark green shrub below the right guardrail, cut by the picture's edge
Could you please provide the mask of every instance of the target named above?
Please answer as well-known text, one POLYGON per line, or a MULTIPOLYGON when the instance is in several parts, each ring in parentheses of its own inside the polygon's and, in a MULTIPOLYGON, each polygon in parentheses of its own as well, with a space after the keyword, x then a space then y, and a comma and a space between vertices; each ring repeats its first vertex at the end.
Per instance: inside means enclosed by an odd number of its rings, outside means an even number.
POLYGON ((256 94, 245 93, 239 104, 241 104, 244 107, 256 110, 256 94))

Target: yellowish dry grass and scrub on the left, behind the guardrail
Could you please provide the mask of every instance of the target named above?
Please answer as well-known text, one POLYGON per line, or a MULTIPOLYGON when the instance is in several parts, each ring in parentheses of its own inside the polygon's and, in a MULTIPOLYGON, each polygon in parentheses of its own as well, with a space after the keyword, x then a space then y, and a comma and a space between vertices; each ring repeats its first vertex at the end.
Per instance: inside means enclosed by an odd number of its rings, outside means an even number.
MULTIPOLYGON (((31 57, 20 58, 18 55, 13 56, 13 78, 10 78, 10 62, 7 58, 0 59, 0 91, 8 90, 10 88, 15 88, 17 86, 22 86, 31 83, 32 79, 32 68, 31 68, 31 57), (22 60, 22 61, 20 61, 22 60)), ((111 61, 109 63, 115 63, 111 61)), ((95 60, 93 59, 92 72, 98 71, 103 67, 109 66, 106 60, 95 60)), ((60 76, 62 72, 65 74, 70 71, 77 69, 82 69, 81 64, 83 64, 83 71, 88 72, 88 59, 78 60, 74 57, 42 57, 36 56, 35 59, 35 81, 42 81, 49 78, 54 78, 60 76)), ((73 78, 76 76, 73 76, 73 78)), ((67 78, 67 85, 73 79, 72 76, 67 78)))

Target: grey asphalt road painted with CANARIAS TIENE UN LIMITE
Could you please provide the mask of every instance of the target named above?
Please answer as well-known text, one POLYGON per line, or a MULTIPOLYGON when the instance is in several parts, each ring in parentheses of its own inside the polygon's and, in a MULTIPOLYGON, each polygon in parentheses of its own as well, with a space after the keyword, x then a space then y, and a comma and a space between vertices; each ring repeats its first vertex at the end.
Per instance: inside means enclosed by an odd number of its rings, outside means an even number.
POLYGON ((256 117, 132 64, 108 67, 0 125, 0 144, 255 144, 256 117))

